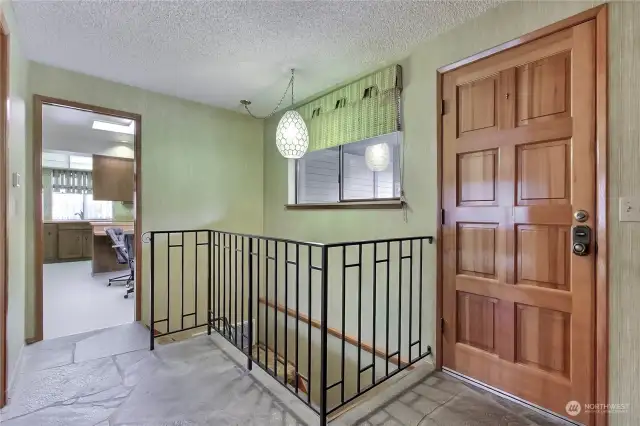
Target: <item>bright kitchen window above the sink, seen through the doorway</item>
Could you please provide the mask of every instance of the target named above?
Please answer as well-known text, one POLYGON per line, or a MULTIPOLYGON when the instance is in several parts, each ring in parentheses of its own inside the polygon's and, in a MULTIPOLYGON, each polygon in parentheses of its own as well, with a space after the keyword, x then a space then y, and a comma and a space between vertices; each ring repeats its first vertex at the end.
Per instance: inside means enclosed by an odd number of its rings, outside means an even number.
POLYGON ((112 219, 111 201, 94 201, 92 194, 54 192, 51 194, 53 220, 112 219))

